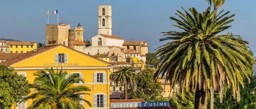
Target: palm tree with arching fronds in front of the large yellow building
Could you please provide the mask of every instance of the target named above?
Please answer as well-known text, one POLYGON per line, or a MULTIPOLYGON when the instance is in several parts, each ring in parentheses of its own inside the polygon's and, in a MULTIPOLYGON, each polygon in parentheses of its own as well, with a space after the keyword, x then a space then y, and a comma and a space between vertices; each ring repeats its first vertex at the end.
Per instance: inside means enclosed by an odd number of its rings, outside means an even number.
POLYGON ((84 109, 79 101, 85 101, 89 106, 91 103, 80 95, 88 94, 86 91, 90 89, 86 86, 74 86, 73 83, 82 81, 78 75, 67 77, 67 72, 63 70, 55 73, 53 68, 45 69, 34 73, 35 80, 31 88, 35 88, 35 92, 25 97, 23 101, 33 99, 29 109, 39 108, 41 104, 49 104, 53 109, 84 109))

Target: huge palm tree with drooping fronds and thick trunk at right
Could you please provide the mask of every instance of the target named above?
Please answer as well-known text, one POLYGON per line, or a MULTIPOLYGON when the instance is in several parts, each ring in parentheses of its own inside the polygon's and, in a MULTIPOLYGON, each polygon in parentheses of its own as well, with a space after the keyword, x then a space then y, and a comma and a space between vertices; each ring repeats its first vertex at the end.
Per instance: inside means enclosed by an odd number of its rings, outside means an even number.
MULTIPOLYGON (((185 11, 184 8, 182 10, 185 11)), ((222 14, 216 17, 215 11, 207 8, 199 13, 195 8, 183 14, 177 11, 180 19, 170 17, 176 21, 181 32, 163 32, 166 38, 160 41, 172 40, 160 46, 155 52, 159 56, 159 67, 155 78, 162 72, 170 81, 171 88, 175 85, 181 89, 195 91, 195 109, 207 108, 207 90, 211 87, 219 92, 222 101, 225 84, 232 89, 233 97, 240 100, 239 85, 244 85, 242 75, 249 80, 251 74, 249 63, 255 59, 247 51, 247 41, 238 40, 234 35, 221 35, 220 32, 231 26, 234 15, 222 14), (218 34, 218 35, 217 35, 218 34)))

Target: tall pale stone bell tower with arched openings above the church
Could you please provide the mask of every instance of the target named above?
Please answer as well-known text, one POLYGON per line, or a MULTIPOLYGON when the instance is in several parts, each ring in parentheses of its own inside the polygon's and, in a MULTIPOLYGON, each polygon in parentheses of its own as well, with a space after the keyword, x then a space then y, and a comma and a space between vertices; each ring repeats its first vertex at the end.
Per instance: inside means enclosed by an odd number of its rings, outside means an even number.
POLYGON ((111 5, 98 5, 98 34, 112 36, 111 5))

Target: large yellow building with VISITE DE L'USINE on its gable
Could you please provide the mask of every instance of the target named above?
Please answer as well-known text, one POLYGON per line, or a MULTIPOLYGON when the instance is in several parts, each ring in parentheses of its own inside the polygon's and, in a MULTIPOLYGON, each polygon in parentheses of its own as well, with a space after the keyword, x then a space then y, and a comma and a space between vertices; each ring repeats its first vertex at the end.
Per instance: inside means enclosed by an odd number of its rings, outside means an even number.
MULTIPOLYGON (((16 58, 4 61, 2 64, 12 67, 15 71, 27 77, 29 83, 34 81, 33 73, 45 68, 63 69, 69 74, 79 73, 84 85, 91 89, 90 95, 81 97, 90 101, 92 107, 81 102, 86 109, 107 109, 109 104, 109 76, 112 64, 86 55, 82 52, 68 48, 64 45, 52 45, 38 48, 36 51, 24 53, 16 58)), ((34 90, 31 91, 33 93, 34 90)), ((32 104, 32 100, 18 104, 15 109, 26 109, 32 104)), ((12 106, 14 109, 14 106, 12 106)))

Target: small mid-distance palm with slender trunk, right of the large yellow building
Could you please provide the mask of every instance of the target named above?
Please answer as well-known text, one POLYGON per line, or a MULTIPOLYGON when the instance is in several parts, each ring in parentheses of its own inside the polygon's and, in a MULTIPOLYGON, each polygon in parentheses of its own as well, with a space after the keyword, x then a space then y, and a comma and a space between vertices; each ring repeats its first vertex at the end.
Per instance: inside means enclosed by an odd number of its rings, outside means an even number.
POLYGON ((124 99, 127 97, 128 87, 135 88, 137 84, 137 74, 132 72, 131 66, 122 66, 118 71, 113 74, 116 85, 124 86, 124 99))

